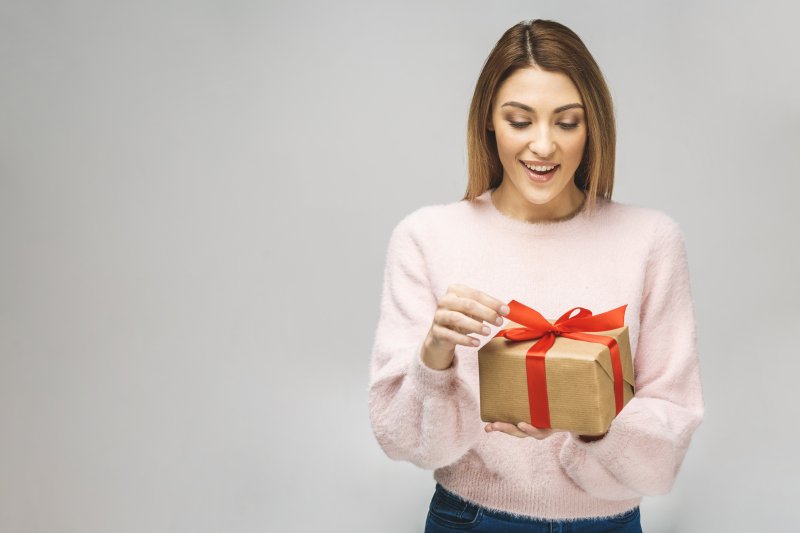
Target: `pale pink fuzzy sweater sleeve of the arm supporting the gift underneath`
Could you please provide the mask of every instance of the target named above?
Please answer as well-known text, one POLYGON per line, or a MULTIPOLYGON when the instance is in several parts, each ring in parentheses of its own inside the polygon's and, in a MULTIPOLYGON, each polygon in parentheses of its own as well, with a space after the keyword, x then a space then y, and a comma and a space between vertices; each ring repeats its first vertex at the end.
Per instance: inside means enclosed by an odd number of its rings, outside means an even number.
POLYGON ((622 500, 670 491, 703 418, 683 234, 665 216, 650 251, 634 361, 636 393, 603 439, 570 434, 560 460, 586 492, 622 500))

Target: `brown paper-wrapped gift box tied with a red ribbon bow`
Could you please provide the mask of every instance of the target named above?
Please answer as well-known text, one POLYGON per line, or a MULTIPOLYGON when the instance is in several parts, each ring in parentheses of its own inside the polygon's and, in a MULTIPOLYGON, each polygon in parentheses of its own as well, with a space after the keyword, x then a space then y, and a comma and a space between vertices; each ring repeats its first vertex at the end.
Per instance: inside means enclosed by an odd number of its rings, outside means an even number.
POLYGON ((481 420, 604 434, 635 392, 627 304, 556 320, 508 306, 510 322, 478 351, 481 420))

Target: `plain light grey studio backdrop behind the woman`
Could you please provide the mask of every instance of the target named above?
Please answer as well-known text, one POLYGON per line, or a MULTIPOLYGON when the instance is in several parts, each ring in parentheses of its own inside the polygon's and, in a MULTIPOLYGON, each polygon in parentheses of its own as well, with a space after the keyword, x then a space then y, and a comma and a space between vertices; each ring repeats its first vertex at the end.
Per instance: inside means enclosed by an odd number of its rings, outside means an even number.
POLYGON ((0 2, 0 531, 421 532, 367 416, 386 246, 461 198, 532 18, 608 80, 614 199, 686 238, 707 411, 645 530, 793 531, 791 6, 0 2))

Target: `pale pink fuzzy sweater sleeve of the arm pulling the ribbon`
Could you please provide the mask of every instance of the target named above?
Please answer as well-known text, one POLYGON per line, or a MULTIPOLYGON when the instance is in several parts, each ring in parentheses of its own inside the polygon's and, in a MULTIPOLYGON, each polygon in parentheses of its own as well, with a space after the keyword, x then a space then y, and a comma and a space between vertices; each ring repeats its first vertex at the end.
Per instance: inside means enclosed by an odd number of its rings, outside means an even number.
POLYGON ((458 460, 480 437, 475 394, 453 365, 435 370, 420 352, 437 298, 421 238, 410 218, 389 239, 368 388, 373 433, 392 459, 436 469, 458 460))

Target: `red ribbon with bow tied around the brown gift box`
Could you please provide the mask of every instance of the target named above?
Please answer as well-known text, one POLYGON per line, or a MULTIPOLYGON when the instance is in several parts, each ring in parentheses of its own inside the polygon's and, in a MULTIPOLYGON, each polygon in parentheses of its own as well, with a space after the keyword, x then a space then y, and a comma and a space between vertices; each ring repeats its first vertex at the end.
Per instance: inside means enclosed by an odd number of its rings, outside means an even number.
POLYGON ((505 337, 512 341, 527 341, 539 339, 531 346, 525 356, 525 367, 528 377, 528 404, 531 410, 531 424, 538 428, 550 427, 550 405, 547 401, 547 373, 545 372, 545 357, 547 350, 553 346, 556 336, 567 337, 586 342, 596 342, 608 346, 611 352, 611 368, 614 371, 614 400, 616 401, 617 414, 622 410, 622 361, 619 355, 619 345, 614 337, 606 335, 591 335, 584 331, 607 331, 621 328, 625 325, 625 308, 628 304, 592 316, 592 312, 583 307, 573 307, 555 323, 551 324, 546 318, 534 309, 519 303, 516 300, 508 302, 511 312, 506 315, 523 327, 506 328, 497 332, 495 337, 505 337), (579 309, 577 315, 570 318, 573 311, 579 309), (541 338, 540 338, 541 337, 541 338))

